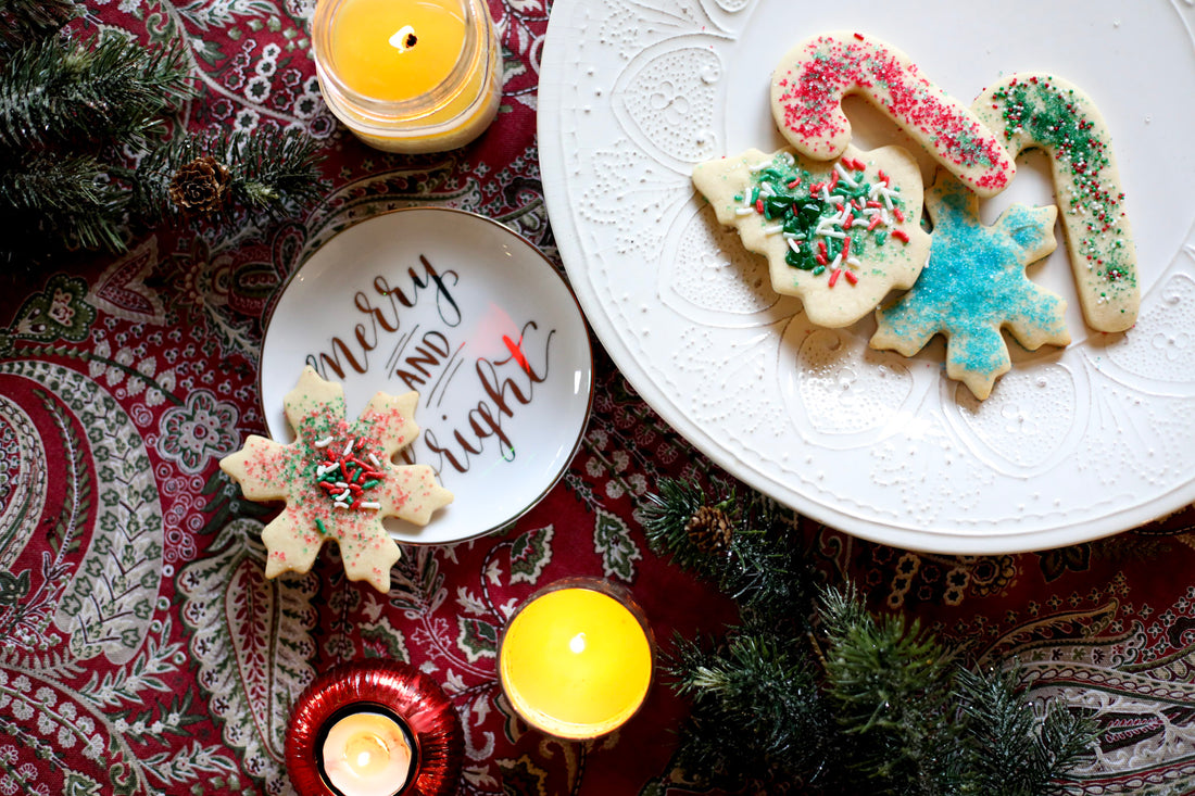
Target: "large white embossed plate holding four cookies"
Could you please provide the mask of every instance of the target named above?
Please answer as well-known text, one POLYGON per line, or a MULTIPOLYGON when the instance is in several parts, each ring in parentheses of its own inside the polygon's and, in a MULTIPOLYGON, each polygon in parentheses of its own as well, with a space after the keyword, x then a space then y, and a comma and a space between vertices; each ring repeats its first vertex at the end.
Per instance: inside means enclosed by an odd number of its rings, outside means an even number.
MULTIPOLYGON (((639 393, 731 473, 887 544, 1011 552, 1115 533, 1195 500, 1195 48, 1190 0, 834 4, 557 0, 539 146, 549 214, 590 325, 639 393), (1066 255, 1030 276, 1068 299, 1073 343, 1013 351, 982 404, 943 347, 871 351, 870 319, 807 323, 695 196, 697 163, 783 141, 768 80, 807 36, 857 30, 969 104, 1010 72, 1085 88, 1113 130, 1144 302, 1090 333, 1066 255)), ((906 142, 862 102, 856 143, 906 142)), ((929 176, 929 164, 925 164, 929 176)), ((983 204, 1053 203, 1041 155, 983 204)), ((1060 234, 1060 233, 1059 233, 1060 234)), ((1017 347, 1013 344, 1013 349, 1017 347)))

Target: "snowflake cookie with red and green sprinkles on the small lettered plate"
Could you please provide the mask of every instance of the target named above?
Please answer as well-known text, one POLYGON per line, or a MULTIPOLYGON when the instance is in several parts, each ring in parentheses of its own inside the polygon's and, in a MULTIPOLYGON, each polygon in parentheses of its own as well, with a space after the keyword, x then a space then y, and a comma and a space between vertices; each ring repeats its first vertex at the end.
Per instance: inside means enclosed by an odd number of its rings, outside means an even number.
POLYGON ((427 525, 453 498, 431 467, 392 461, 418 434, 417 402, 415 392, 379 392, 350 422, 343 387, 307 367, 283 399, 295 441, 251 435, 220 461, 246 498, 286 501, 262 532, 266 577, 308 571, 323 544, 333 540, 349 580, 390 592, 390 570, 402 552, 384 518, 427 525))

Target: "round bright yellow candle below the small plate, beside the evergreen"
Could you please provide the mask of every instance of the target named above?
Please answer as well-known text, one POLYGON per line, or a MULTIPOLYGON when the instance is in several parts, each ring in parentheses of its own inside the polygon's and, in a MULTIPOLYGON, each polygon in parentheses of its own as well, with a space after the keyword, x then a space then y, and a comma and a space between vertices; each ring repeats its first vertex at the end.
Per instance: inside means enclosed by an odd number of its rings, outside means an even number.
POLYGON ((498 647, 507 702, 532 727, 581 740, 625 724, 646 699, 655 639, 630 593, 574 577, 533 594, 498 647))

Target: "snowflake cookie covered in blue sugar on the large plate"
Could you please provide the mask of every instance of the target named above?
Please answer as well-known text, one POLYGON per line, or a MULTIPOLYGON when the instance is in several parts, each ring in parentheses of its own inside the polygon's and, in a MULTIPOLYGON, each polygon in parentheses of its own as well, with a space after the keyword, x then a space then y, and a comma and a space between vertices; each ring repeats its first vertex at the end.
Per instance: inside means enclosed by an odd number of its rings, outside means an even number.
POLYGON ((1030 350, 1071 342, 1066 300, 1025 276, 1058 245, 1058 208, 1013 204, 985 226, 979 197, 940 169, 925 201, 933 221, 930 262, 908 293, 876 311, 871 347, 912 356, 942 333, 946 375, 982 400, 1012 367, 1001 329, 1030 350))

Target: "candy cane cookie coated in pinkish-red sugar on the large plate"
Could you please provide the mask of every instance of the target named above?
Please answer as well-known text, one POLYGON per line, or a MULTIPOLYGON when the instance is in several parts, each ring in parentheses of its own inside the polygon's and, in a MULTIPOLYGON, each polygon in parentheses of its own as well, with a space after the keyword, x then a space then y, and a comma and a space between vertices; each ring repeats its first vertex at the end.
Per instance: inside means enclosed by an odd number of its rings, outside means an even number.
POLYGON ((871 36, 813 36, 772 73, 772 116, 801 154, 833 160, 851 141, 842 98, 862 94, 980 196, 1004 190, 1013 158, 967 105, 930 82, 896 48, 871 36))

